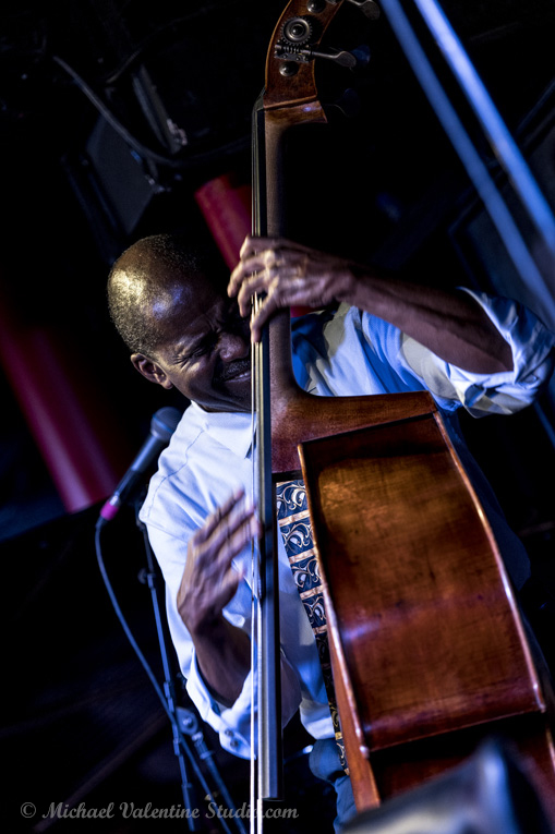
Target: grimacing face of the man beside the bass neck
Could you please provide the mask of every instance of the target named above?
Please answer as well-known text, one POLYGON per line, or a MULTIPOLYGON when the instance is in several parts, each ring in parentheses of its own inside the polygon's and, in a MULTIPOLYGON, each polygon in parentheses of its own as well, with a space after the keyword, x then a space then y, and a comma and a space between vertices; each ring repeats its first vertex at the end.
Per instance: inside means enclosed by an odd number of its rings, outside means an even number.
MULTIPOLYGON (((164 316, 167 338, 152 365, 155 382, 174 386, 206 411, 250 411, 251 338, 237 303, 209 283, 180 288, 164 316)), ((148 378, 135 354, 133 364, 148 378)))

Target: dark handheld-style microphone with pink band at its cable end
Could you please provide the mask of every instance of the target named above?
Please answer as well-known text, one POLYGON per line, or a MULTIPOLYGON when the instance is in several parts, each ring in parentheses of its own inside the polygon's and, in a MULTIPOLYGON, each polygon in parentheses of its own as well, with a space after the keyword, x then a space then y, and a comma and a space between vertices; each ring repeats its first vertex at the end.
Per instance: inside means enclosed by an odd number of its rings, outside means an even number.
POLYGON ((100 510, 101 519, 111 521, 117 516, 122 504, 125 503, 134 488, 142 483, 144 473, 154 463, 160 451, 169 444, 170 437, 176 431, 181 416, 181 412, 174 408, 159 409, 154 414, 150 421, 150 434, 111 497, 100 510))

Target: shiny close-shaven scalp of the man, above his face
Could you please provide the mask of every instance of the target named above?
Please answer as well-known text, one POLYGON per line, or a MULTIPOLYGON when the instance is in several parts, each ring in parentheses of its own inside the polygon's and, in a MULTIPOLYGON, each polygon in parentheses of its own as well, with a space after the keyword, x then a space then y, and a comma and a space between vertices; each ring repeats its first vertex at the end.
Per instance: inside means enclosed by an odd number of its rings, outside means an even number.
POLYGON ((156 355, 174 311, 196 286, 225 294, 228 273, 214 249, 174 234, 143 238, 126 249, 108 277, 111 319, 131 353, 156 355))

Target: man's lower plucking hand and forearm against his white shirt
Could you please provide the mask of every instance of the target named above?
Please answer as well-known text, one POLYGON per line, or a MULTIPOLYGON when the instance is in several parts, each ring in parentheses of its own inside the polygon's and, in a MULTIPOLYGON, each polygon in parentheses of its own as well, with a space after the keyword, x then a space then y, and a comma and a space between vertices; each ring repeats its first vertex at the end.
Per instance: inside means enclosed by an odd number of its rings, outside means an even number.
POLYGON ((237 699, 250 668, 249 636, 222 615, 242 579, 231 563, 258 531, 244 494, 234 493, 191 537, 178 591, 203 678, 222 703, 237 699))

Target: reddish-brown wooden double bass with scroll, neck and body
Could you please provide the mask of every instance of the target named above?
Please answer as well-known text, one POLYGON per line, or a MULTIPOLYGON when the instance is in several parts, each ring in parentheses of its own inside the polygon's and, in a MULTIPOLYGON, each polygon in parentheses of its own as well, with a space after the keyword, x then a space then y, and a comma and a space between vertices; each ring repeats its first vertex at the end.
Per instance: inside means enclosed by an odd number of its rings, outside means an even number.
MULTIPOLYGON (((325 124, 314 64, 345 3, 291 0, 268 49, 254 114, 254 232, 290 232, 286 141, 325 124)), ((355 58, 353 59, 357 60, 355 58)), ((315 398, 297 385, 289 312, 256 355, 261 551, 258 769, 279 795, 275 485, 302 474, 329 624, 334 681, 359 811, 508 737, 555 823, 551 690, 495 537, 429 394, 315 398), (317 404, 317 408, 315 408, 317 404), (277 684, 277 685, 276 685, 277 684)))

